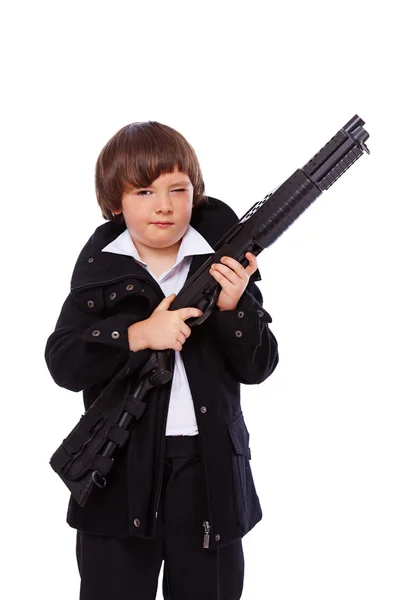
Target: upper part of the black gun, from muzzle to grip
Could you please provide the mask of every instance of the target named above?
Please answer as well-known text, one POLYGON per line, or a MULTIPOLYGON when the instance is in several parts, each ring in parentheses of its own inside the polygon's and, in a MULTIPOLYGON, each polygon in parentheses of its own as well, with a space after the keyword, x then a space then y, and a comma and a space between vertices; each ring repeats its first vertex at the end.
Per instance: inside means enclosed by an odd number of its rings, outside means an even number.
MULTIPOLYGON (((209 274, 212 263, 230 256, 247 266, 246 252, 258 256, 330 187, 362 154, 368 133, 355 115, 302 169, 256 202, 215 245, 215 254, 192 275, 170 306, 177 310, 193 306, 204 310, 219 284, 209 274)), ((195 319, 188 319, 190 326, 195 319)))

